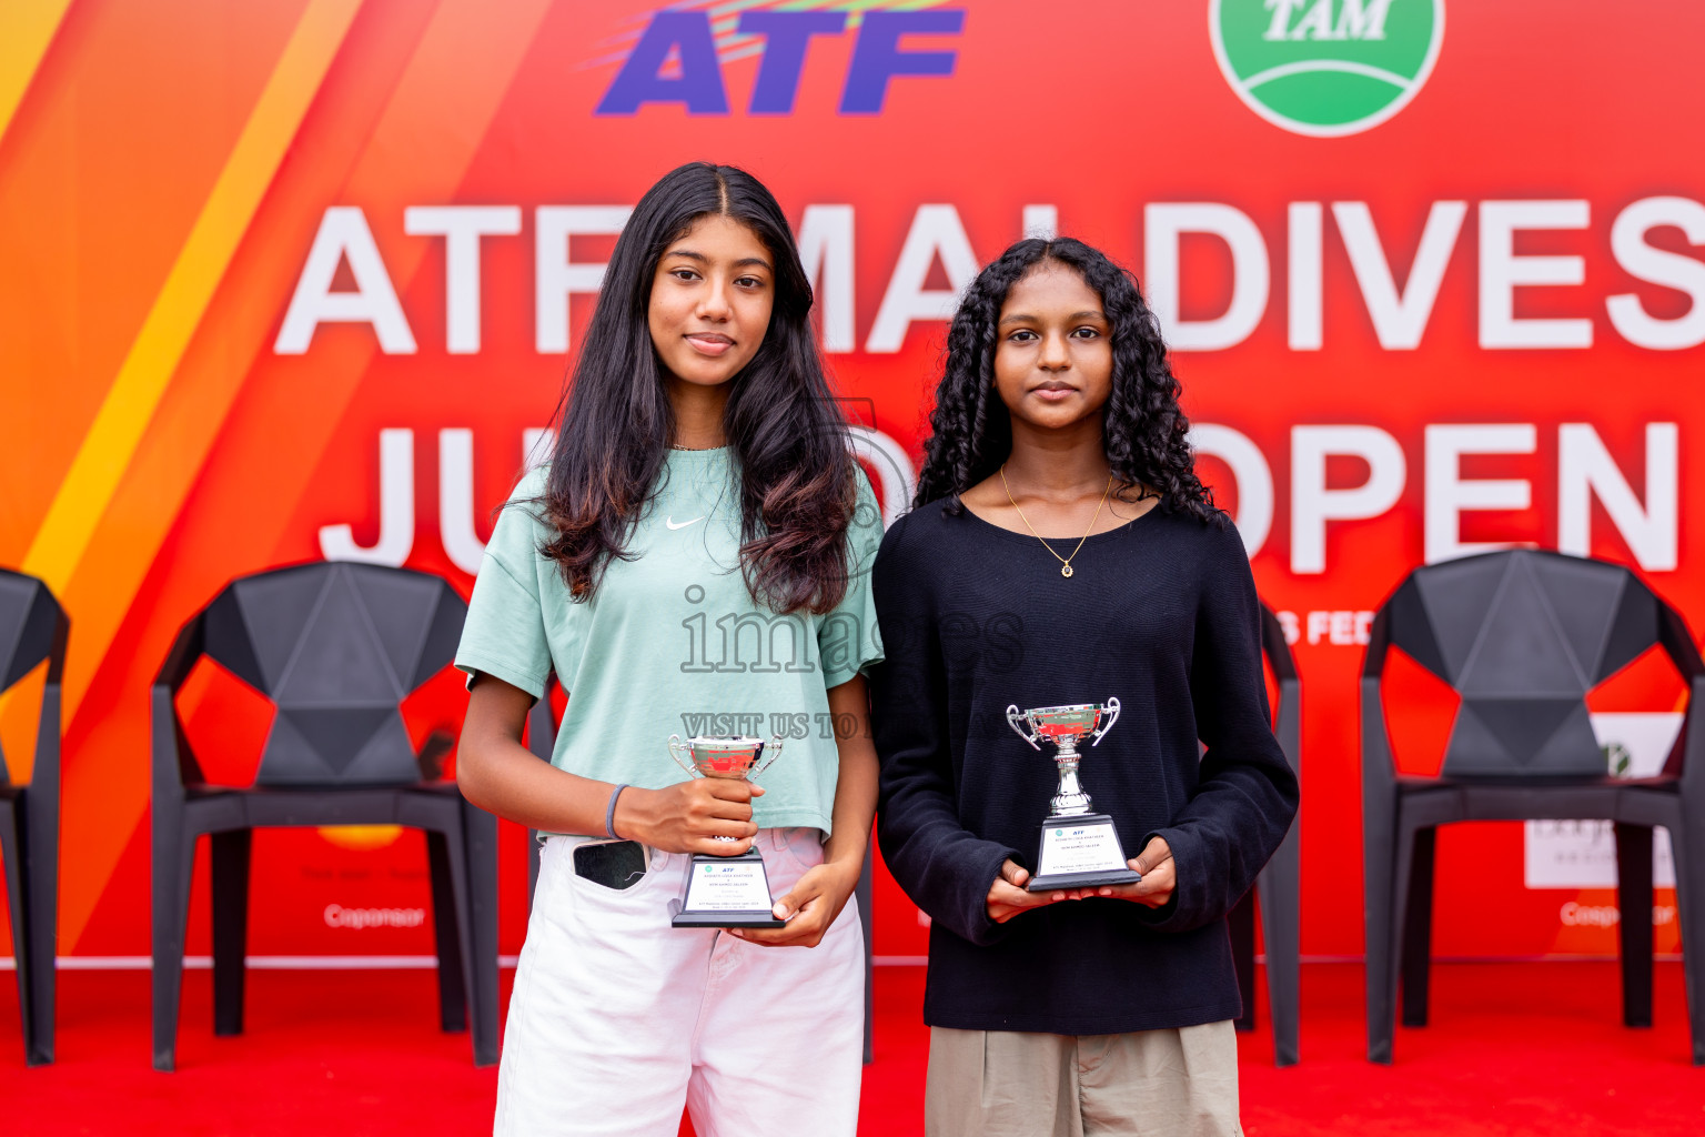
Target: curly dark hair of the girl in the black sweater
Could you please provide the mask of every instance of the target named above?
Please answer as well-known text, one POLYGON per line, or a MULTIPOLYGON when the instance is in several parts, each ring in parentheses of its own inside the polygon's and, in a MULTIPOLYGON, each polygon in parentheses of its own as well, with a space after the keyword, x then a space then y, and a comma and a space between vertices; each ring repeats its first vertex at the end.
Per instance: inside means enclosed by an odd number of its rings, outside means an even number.
POLYGON ((1224 525, 1214 494, 1195 476, 1187 440, 1190 421, 1178 409, 1178 380, 1166 361, 1154 312, 1130 273, 1071 237, 1020 240, 982 269, 960 300, 948 329, 946 363, 912 505, 948 498, 948 513, 958 515, 965 508, 960 494, 994 474, 1011 453, 1013 421, 994 389, 996 326, 1006 293, 1043 261, 1083 276, 1101 297, 1113 329, 1113 390, 1101 409, 1101 445, 1113 477, 1125 493, 1154 491, 1158 508, 1168 513, 1224 525))

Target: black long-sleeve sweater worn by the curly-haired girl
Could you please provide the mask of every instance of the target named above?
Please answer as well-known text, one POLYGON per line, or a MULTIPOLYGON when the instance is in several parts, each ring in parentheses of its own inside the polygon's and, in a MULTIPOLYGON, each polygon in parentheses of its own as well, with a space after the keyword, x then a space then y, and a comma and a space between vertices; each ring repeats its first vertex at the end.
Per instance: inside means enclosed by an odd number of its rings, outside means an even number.
POLYGON ((888 530, 873 578, 887 648, 871 675, 878 839, 933 919, 924 1021, 1105 1035, 1236 1018, 1224 917, 1298 803, 1236 530, 1151 510, 1089 537, 1067 580, 1035 537, 943 506, 888 530), (1083 786, 1127 857, 1166 839, 1173 898, 1061 902, 992 922, 984 900, 1001 861, 1035 869, 1059 784, 1054 747, 1032 750, 1006 706, 1110 695, 1120 718, 1079 745, 1083 786))

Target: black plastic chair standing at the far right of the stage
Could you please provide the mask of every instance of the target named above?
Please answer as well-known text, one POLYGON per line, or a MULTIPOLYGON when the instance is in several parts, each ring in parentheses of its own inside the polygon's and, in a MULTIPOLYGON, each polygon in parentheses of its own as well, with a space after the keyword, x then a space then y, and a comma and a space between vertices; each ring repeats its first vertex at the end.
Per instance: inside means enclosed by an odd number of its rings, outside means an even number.
POLYGON ((1693 1064, 1705 1064, 1705 663, 1686 624, 1628 569, 1511 551, 1415 569, 1379 609, 1362 663, 1362 827, 1367 1059, 1391 1060, 1398 972, 1403 1024, 1427 1024, 1434 842, 1465 820, 1608 818, 1616 832, 1623 1021, 1652 1023, 1652 827, 1676 859, 1693 1064), (1381 706, 1398 646, 1461 706, 1439 777, 1398 774, 1381 706), (1616 779, 1586 694, 1661 644, 1688 685, 1686 724, 1657 777, 1616 779), (1400 955, 1402 949, 1402 955, 1400 955), (1400 963, 1400 967, 1398 967, 1400 963))

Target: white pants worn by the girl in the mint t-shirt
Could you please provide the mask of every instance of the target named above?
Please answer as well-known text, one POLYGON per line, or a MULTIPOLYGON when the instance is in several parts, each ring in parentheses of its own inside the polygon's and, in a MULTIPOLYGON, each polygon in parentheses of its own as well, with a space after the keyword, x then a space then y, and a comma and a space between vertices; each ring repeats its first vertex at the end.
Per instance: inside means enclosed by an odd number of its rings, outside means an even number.
MULTIPOLYGON (((815 828, 767 828, 781 898, 822 863, 815 828)), ((539 857, 510 996, 496 1137, 852 1137, 864 1050, 864 944, 849 900, 817 948, 670 927, 691 857, 646 849, 626 890, 575 874, 575 837, 539 857)))

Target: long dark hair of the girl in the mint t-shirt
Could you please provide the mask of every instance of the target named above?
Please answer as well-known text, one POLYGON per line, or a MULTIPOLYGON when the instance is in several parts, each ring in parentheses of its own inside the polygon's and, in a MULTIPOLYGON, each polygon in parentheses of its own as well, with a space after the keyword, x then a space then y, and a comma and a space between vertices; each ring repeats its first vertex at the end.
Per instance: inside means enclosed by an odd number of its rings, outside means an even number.
POLYGON ((774 612, 827 612, 846 595, 846 532, 858 465, 812 336, 812 285, 776 198, 733 165, 694 162, 665 174, 616 240, 598 307, 558 407, 556 448, 540 499, 556 561, 576 600, 590 598, 662 488, 675 435, 665 370, 646 322, 651 278, 694 222, 750 228, 776 263, 764 343, 730 384, 723 433, 740 494, 740 571, 774 612))

